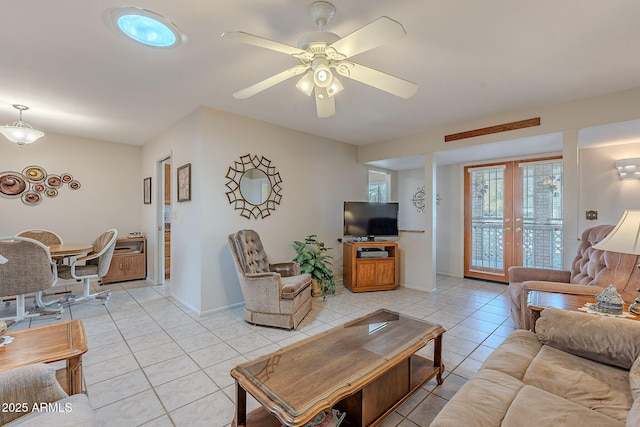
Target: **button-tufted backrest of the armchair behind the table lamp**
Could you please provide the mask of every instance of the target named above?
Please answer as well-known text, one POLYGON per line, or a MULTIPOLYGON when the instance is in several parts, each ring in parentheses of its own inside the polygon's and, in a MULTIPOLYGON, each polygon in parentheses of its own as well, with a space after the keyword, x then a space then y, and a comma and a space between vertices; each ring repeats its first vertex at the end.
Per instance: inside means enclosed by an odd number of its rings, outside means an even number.
POLYGON ((640 285, 638 256, 593 248, 613 230, 613 227, 597 225, 584 230, 578 254, 571 263, 570 280, 571 283, 579 285, 613 285, 625 301, 628 301, 629 297, 637 294, 636 288, 640 285))

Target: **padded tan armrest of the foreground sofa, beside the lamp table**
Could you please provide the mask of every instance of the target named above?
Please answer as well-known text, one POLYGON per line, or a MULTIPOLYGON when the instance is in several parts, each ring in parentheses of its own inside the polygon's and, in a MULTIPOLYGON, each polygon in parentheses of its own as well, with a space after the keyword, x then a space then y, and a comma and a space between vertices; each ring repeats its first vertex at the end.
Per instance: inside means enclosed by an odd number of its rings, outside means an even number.
POLYGON ((536 335, 543 344, 627 370, 640 355, 640 327, 619 317, 546 308, 536 335))

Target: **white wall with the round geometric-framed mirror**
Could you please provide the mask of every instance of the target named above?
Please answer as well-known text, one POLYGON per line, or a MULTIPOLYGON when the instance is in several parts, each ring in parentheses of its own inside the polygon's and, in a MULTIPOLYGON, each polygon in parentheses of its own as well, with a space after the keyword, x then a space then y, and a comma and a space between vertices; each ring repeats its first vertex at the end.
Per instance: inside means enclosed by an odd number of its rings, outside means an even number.
MULTIPOLYGON (((243 228, 260 234, 272 261, 293 259, 293 240, 317 234, 334 248, 341 278, 342 203, 367 195, 367 168, 357 162, 355 146, 203 107, 144 147, 144 173, 154 174, 167 154, 173 154, 173 176, 192 164, 192 200, 175 203, 172 194, 171 291, 194 311, 242 302, 227 237, 243 228), (271 160, 283 181, 282 201, 265 219, 241 217, 226 196, 227 170, 245 154, 271 160)), ((156 209, 154 202, 143 213, 150 235, 156 209)), ((156 239, 149 244, 150 260, 156 245, 156 239)))

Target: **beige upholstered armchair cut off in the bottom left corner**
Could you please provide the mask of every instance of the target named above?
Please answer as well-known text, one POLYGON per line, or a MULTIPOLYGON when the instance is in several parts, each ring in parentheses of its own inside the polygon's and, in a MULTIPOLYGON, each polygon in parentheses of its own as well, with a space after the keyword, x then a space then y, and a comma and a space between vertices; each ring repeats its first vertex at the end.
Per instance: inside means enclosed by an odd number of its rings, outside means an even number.
POLYGON ((0 372, 0 425, 97 426, 85 394, 68 396, 50 365, 36 363, 0 372))

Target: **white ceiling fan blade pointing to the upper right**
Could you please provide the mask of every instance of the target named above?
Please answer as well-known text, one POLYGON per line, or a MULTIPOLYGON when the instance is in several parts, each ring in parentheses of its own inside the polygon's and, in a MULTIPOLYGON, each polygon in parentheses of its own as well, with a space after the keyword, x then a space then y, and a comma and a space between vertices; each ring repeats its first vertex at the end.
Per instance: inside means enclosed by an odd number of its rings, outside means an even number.
POLYGON ((382 16, 331 44, 326 51, 334 59, 346 59, 406 35, 401 23, 382 16))

